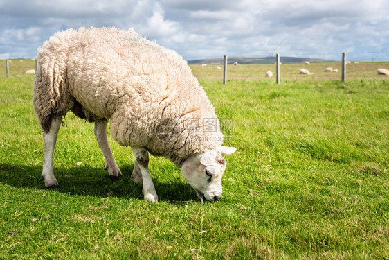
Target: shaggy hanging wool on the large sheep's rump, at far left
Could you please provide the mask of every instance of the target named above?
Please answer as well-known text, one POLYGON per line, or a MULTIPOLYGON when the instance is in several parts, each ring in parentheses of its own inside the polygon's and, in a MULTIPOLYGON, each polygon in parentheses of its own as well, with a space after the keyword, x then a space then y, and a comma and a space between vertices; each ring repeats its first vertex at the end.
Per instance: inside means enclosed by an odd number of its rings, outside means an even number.
POLYGON ((43 131, 48 132, 52 119, 64 116, 71 109, 73 98, 66 85, 66 62, 45 47, 42 47, 44 53, 38 55, 33 103, 43 131))

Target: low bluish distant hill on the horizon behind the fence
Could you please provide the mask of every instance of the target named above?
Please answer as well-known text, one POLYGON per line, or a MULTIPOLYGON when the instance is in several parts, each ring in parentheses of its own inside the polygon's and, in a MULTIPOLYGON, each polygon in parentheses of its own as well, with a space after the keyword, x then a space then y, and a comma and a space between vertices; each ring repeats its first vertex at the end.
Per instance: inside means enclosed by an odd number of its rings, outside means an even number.
MULTIPOLYGON (((334 60, 323 60, 316 58, 299 58, 299 57, 280 57, 281 63, 304 63, 304 62, 334 62, 334 60)), ((212 58, 205 60, 189 60, 188 64, 223 64, 223 58, 212 58)), ((273 64, 275 57, 251 58, 251 57, 230 57, 227 59, 228 64, 273 64)))

